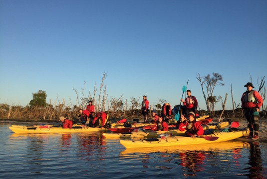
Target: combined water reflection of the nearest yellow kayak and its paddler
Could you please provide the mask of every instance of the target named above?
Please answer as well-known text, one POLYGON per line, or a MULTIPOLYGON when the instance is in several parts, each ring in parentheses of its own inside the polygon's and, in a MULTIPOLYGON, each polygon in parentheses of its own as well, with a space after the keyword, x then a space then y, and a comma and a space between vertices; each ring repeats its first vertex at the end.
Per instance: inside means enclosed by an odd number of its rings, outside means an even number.
POLYGON ((247 142, 218 142, 216 144, 169 146, 158 148, 127 148, 120 154, 127 158, 140 158, 143 167, 172 169, 181 168, 184 176, 196 176, 198 172, 221 172, 218 165, 227 167, 229 162, 239 164, 242 149, 250 146, 247 142), (156 160, 157 158, 157 160, 156 160), (176 164, 173 165, 173 164, 176 164), (178 167, 179 165, 180 167, 178 167), (213 170, 213 171, 212 171, 213 170))

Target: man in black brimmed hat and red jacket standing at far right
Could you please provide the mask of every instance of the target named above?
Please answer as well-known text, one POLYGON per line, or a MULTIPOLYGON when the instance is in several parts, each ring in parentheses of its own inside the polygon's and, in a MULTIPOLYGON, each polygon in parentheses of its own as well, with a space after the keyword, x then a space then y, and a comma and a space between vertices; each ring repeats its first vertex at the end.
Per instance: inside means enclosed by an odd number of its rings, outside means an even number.
POLYGON ((263 98, 260 93, 254 88, 251 82, 244 85, 247 87, 247 91, 242 94, 241 107, 243 113, 248 120, 248 127, 250 128, 250 135, 248 138, 257 140, 259 138, 259 111, 263 104, 263 98), (253 135, 254 130, 254 135, 253 135))

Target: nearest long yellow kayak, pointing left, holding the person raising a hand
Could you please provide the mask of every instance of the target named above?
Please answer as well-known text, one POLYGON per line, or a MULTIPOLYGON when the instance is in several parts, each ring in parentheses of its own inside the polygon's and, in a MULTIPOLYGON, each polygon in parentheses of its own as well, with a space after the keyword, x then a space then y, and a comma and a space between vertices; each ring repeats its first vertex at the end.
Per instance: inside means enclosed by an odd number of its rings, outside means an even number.
POLYGON ((120 140, 120 143, 125 148, 140 148, 140 147, 160 147, 160 146, 176 146, 176 145, 192 145, 214 143, 228 141, 249 134, 249 128, 239 129, 237 131, 222 132, 217 131, 213 134, 202 135, 201 137, 187 136, 162 136, 161 138, 147 138, 140 140, 120 140))

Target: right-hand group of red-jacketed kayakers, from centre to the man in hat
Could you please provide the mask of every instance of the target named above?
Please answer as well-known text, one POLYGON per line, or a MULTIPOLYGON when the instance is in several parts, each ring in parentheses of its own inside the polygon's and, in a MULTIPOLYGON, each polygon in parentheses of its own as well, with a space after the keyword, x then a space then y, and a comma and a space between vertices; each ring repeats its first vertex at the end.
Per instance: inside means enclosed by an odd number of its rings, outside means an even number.
MULTIPOLYGON (((250 134, 247 136, 247 138, 257 140, 259 139, 259 111, 263 104, 263 98, 258 91, 253 90, 254 86, 251 82, 245 84, 244 87, 247 87, 247 90, 241 97, 241 107, 248 121, 248 127, 250 129, 250 134)), ((198 101, 195 96, 191 95, 191 90, 188 89, 186 92, 187 97, 185 100, 180 100, 183 102, 186 110, 185 113, 181 115, 181 119, 180 122, 178 122, 177 127, 181 131, 186 130, 186 135, 196 137, 204 133, 203 127, 199 124, 199 122, 196 122, 198 101)), ((141 111, 144 116, 144 122, 147 121, 148 104, 149 102, 144 95, 141 107, 141 111)), ((165 103, 163 105, 161 116, 158 116, 156 111, 152 110, 152 122, 157 124, 157 129, 168 130, 168 124, 163 120, 163 118, 167 120, 169 117, 171 117, 171 110, 166 112, 167 105, 169 104, 165 103)))

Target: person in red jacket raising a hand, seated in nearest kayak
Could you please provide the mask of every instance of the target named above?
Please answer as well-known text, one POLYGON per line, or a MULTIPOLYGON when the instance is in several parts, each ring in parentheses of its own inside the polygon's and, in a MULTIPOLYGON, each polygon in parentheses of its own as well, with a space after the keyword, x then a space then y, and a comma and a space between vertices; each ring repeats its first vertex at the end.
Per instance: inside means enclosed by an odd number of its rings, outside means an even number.
POLYGON ((181 131, 186 130, 186 135, 191 137, 203 135, 203 127, 201 126, 200 122, 197 122, 195 113, 190 111, 187 116, 189 118, 188 121, 186 120, 185 115, 181 116, 181 122, 178 125, 178 129, 181 131))

